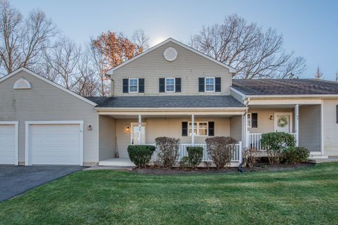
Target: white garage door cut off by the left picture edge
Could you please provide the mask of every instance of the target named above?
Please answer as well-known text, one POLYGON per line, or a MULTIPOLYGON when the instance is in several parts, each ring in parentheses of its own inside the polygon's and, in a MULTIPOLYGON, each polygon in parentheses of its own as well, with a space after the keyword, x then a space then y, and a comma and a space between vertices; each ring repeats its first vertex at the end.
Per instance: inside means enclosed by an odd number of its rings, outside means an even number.
POLYGON ((0 124, 0 164, 18 165, 18 136, 15 124, 0 124))

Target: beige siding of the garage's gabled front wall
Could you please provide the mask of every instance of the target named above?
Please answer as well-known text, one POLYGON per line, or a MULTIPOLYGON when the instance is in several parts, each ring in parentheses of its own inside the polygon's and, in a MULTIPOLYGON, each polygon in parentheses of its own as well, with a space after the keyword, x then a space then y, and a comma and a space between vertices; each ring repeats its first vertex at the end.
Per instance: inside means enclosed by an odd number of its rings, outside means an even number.
POLYGON ((94 106, 25 71, 0 83, 0 120, 19 121, 19 162, 25 161, 25 121, 83 120, 84 162, 98 162, 98 115, 94 106), (20 78, 32 89, 13 89, 20 78), (92 124, 92 131, 87 130, 92 124))

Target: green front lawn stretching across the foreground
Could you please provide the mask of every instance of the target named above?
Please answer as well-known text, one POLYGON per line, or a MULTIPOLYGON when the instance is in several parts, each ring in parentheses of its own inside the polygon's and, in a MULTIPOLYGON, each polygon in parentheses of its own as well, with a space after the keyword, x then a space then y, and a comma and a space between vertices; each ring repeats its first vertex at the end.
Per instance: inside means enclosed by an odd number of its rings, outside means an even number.
POLYGON ((292 172, 92 170, 0 203, 0 224, 334 224, 338 163, 292 172))

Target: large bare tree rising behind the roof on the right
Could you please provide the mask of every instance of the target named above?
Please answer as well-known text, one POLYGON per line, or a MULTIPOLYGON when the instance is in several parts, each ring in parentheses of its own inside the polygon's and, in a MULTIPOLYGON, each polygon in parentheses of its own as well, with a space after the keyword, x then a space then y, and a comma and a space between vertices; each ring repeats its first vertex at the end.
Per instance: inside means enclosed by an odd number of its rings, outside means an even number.
POLYGON ((239 78, 286 78, 303 72, 304 58, 286 53, 282 44, 283 37, 275 30, 263 31, 256 23, 230 15, 220 25, 202 27, 190 46, 232 66, 239 78))

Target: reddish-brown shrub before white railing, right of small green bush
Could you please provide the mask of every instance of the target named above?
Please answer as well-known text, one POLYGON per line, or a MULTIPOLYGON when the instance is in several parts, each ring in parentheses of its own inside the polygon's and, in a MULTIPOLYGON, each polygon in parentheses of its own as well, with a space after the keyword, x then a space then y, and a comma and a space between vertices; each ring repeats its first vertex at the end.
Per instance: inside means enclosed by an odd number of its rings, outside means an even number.
POLYGON ((232 151, 236 143, 237 140, 230 136, 215 136, 206 139, 206 151, 217 169, 223 169, 230 165, 232 151))

